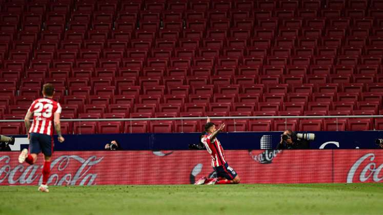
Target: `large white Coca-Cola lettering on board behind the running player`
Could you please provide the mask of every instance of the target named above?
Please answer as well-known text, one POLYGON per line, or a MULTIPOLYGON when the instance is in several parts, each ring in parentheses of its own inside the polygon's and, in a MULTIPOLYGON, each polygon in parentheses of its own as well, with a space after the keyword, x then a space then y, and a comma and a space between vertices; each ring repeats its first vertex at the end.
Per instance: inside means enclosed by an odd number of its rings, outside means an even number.
MULTIPOLYGON (((97 174, 90 173, 92 166, 103 160, 104 157, 97 158, 90 156, 84 159, 76 155, 64 155, 51 162, 51 175, 48 178, 49 185, 94 185, 97 174), (73 168, 73 166, 78 166, 73 168), (71 168, 69 167, 71 166, 71 168)), ((18 164, 12 167, 9 156, 0 157, 0 184, 32 184, 38 180, 42 183, 42 165, 25 166, 18 164), (40 170, 39 170, 40 169, 40 170)))

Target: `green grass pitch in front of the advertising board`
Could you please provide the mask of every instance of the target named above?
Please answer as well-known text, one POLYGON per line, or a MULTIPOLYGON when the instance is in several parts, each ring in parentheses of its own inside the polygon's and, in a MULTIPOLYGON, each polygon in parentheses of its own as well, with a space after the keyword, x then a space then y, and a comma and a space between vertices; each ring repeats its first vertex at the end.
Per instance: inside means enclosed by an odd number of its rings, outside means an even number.
POLYGON ((0 214, 383 214, 381 184, 0 186, 0 214))

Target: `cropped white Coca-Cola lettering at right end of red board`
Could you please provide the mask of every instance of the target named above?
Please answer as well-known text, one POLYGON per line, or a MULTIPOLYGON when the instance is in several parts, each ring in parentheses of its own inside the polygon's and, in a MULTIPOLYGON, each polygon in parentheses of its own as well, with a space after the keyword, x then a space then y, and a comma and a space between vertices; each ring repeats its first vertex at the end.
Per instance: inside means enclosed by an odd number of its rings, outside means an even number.
POLYGON ((381 176, 380 171, 383 168, 383 164, 376 164, 373 162, 375 159, 374 153, 368 153, 362 157, 360 157, 350 168, 349 173, 347 174, 347 183, 353 183, 355 173, 359 173, 359 181, 358 182, 366 182, 372 176, 372 180, 374 182, 379 182, 383 180, 383 176, 381 176), (364 161, 370 160, 370 163, 367 163, 364 167, 361 164, 364 161), (359 168, 360 167, 360 168, 359 168))

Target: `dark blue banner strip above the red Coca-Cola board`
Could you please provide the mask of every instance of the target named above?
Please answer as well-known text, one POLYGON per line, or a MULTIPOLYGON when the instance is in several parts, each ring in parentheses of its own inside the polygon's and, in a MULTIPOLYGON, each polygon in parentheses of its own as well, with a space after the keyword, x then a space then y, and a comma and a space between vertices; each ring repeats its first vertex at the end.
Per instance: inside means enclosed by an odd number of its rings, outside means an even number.
MULTIPOLYGON (((299 132, 298 132, 299 133, 299 132)), ((304 132, 308 133, 308 132, 304 132)), ((377 148, 376 139, 383 139, 383 131, 362 132, 312 132, 315 140, 311 149, 377 148)), ((171 134, 100 134, 65 135, 65 142, 57 142, 54 150, 103 150, 105 144, 116 140, 123 150, 185 150, 199 141, 200 133, 171 134)), ((218 139, 225 149, 275 149, 281 132, 231 132, 220 133, 218 139)), ((12 150, 28 147, 26 136, 16 137, 12 150)))

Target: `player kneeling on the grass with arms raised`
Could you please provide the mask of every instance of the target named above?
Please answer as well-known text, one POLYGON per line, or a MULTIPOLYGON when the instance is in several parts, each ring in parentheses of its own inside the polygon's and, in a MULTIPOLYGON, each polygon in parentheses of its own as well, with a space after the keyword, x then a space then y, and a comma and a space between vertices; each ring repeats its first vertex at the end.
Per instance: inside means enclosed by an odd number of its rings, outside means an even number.
POLYGON ((233 168, 225 160, 224 148, 216 138, 218 133, 223 131, 225 123, 220 124, 218 129, 216 125, 210 122, 208 118, 205 124, 205 135, 201 135, 201 142, 204 143, 206 149, 211 156, 211 165, 217 173, 217 178, 207 179, 205 176, 195 182, 196 185, 201 184, 238 184, 239 176, 233 168))

